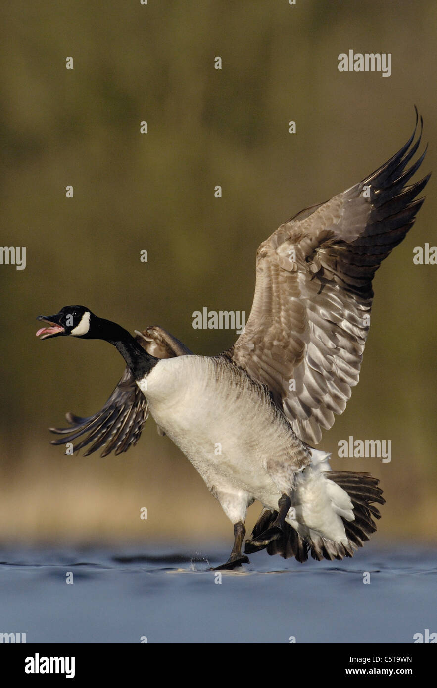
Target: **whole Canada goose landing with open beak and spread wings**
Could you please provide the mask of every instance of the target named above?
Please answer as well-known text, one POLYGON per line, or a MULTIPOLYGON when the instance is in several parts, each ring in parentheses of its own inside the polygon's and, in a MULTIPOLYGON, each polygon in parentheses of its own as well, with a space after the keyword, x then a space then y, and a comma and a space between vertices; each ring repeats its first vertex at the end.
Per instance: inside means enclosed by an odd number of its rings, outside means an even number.
POLYGON ((331 471, 330 455, 312 447, 343 413, 359 380, 372 306, 372 278, 414 224, 429 175, 406 186, 425 156, 418 124, 393 158, 359 184, 282 224, 257 251, 251 315, 233 347, 195 356, 161 327, 131 336, 85 306, 39 316, 37 336, 100 338, 127 368, 94 416, 72 413, 72 427, 53 428, 54 444, 83 437, 103 455, 136 444, 150 411, 180 447, 234 527, 228 561, 242 555, 246 510, 263 510, 246 554, 315 559, 352 557, 376 530, 383 504, 369 473, 331 471), (412 145, 413 144, 413 145, 412 145), (216 451, 220 447, 220 451, 216 451))

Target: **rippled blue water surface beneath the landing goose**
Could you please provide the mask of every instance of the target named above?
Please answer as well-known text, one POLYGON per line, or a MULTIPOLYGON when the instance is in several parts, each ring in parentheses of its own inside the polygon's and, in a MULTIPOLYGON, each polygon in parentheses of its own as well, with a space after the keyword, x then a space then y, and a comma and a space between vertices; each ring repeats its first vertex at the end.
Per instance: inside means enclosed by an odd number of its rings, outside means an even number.
POLYGON ((206 569, 227 555, 211 544, 0 547, 0 632, 27 643, 412 643, 437 632, 436 551, 370 545, 305 564, 257 552, 215 583, 206 569))

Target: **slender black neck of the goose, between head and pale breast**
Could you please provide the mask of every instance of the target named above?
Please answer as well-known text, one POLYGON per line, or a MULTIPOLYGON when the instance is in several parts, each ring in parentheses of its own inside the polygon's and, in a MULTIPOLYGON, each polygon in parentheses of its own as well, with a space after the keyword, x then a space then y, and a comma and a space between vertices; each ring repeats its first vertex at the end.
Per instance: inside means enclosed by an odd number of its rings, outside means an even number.
POLYGON ((105 339, 109 344, 114 345, 125 359, 136 380, 140 380, 147 375, 160 360, 148 354, 124 327, 110 320, 96 318, 96 321, 93 323, 92 338, 105 339))

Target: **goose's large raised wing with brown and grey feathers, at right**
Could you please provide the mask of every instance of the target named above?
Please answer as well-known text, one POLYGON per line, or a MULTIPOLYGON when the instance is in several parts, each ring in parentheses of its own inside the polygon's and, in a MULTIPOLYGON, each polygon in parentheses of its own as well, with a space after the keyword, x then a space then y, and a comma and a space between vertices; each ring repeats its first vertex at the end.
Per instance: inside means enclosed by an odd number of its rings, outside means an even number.
POLYGON ((359 380, 372 279, 414 224, 429 179, 405 186, 423 155, 417 129, 376 172, 282 224, 257 251, 251 315, 224 353, 270 387, 297 435, 317 444, 359 380), (413 145, 412 145, 413 144, 413 145))

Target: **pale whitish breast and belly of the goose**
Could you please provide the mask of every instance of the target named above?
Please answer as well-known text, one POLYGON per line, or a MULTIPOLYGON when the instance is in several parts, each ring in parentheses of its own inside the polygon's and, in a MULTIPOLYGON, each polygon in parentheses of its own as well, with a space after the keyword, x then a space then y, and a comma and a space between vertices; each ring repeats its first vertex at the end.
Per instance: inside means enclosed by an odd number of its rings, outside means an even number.
POLYGON ((296 464, 303 445, 251 380, 216 359, 179 356, 160 361, 146 382, 151 415, 209 488, 225 480, 277 508, 266 462, 296 464))

